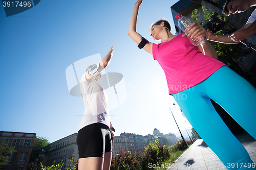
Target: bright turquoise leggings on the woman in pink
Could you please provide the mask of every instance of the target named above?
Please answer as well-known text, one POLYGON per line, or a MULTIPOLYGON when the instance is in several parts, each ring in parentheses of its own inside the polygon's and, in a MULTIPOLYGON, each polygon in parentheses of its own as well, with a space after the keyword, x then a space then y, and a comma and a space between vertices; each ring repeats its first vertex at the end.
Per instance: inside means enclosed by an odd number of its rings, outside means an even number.
POLYGON ((210 102, 212 99, 222 106, 256 139, 256 89, 250 83, 223 66, 200 84, 173 96, 189 123, 228 169, 250 169, 253 161, 210 102), (247 168, 240 168, 242 164, 247 168))

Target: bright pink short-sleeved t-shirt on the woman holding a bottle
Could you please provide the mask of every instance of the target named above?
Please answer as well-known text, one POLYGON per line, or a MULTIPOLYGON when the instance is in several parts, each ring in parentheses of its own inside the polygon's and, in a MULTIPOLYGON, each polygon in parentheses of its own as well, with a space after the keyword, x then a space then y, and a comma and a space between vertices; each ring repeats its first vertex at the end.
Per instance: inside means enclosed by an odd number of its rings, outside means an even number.
POLYGON ((163 68, 169 94, 193 87, 226 64, 203 55, 187 37, 177 35, 170 41, 153 44, 153 57, 163 68))

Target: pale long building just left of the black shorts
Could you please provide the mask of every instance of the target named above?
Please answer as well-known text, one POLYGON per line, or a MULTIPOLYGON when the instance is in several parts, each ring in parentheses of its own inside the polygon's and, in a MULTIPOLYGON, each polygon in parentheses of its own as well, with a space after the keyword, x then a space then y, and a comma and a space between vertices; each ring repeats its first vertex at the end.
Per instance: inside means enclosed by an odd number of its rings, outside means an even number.
POLYGON ((55 164, 63 163, 62 169, 65 169, 70 163, 71 154, 75 156, 74 161, 77 161, 78 148, 76 144, 76 136, 77 134, 74 133, 52 142, 50 154, 44 156, 42 164, 44 166, 51 166, 55 161, 55 164))

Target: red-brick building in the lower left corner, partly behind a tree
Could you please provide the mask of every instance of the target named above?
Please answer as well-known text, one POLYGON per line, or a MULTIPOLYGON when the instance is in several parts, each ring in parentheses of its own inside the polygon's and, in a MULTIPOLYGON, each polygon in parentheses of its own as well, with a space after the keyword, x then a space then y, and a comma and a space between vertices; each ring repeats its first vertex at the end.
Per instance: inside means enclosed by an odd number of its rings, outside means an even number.
POLYGON ((3 170, 25 170, 33 149, 35 133, 0 131, 0 140, 6 140, 10 146, 15 147, 12 155, 9 155, 8 164, 3 170))

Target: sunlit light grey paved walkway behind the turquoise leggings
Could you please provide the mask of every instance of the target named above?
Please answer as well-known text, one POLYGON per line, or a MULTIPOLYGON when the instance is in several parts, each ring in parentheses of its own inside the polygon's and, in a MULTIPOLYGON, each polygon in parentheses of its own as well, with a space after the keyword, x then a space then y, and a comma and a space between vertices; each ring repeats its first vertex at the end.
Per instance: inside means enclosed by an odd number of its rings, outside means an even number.
MULTIPOLYGON (((239 136, 253 162, 256 164, 256 140, 251 136, 239 136)), ((196 140, 168 170, 172 169, 227 169, 218 156, 211 151, 203 139, 196 140)))

